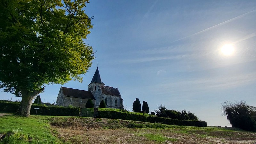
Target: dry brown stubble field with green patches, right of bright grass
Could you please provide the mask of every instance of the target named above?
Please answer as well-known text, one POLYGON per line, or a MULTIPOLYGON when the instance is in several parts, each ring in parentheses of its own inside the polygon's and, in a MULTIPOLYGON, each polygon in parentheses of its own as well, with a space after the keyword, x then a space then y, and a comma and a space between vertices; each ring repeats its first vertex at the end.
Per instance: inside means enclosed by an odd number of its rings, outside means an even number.
POLYGON ((70 119, 60 125, 52 123, 52 133, 72 144, 256 144, 255 132, 236 128, 125 128, 125 125, 129 121, 70 119))

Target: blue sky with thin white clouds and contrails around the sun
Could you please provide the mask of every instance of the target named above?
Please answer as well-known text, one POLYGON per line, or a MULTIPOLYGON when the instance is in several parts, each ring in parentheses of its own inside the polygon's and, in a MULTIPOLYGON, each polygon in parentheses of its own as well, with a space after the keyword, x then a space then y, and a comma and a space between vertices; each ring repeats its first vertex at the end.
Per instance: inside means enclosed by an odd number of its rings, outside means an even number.
MULTIPOLYGON (((83 83, 63 86, 87 90, 99 62, 101 80, 119 89, 130 111, 139 98, 150 111, 163 104, 195 113, 208 125, 230 126, 220 103, 256 106, 254 0, 91 0, 84 10, 94 16, 85 42, 97 58, 83 83), (224 44, 233 44, 232 55, 221 53, 224 44)), ((42 101, 56 102, 60 86, 46 85, 42 101)))

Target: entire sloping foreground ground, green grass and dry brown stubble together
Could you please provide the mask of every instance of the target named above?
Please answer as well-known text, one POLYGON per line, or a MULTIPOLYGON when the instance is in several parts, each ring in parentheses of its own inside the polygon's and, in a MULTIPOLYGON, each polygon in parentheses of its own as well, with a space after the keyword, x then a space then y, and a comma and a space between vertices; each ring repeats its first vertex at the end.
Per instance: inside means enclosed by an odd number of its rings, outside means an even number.
POLYGON ((67 116, 0 116, 0 143, 254 144, 256 133, 236 128, 189 127, 67 116))

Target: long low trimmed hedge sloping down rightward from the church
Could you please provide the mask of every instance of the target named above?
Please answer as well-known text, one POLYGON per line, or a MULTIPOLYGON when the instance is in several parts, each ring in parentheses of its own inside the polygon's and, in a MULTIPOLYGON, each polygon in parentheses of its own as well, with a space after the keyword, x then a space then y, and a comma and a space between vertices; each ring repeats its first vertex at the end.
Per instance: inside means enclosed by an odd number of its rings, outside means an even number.
POLYGON ((170 125, 185 125, 185 126, 200 126, 207 127, 205 121, 190 121, 190 120, 178 120, 157 116, 144 116, 133 113, 123 113, 120 111, 105 111, 99 110, 98 117, 101 118, 113 118, 113 119, 124 119, 124 120, 134 120, 140 122, 149 122, 149 123, 161 123, 161 124, 170 124, 170 125))

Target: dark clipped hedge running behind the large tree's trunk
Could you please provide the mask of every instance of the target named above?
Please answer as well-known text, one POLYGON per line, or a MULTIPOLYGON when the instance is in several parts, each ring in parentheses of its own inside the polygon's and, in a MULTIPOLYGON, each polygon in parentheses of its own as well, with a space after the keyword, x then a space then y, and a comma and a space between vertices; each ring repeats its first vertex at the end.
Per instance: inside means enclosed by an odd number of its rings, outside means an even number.
MULTIPOLYGON (((0 102, 0 111, 15 113, 20 106, 19 102, 0 102)), ((80 108, 69 107, 48 107, 45 105, 32 104, 30 114, 43 115, 43 116, 79 116, 80 108), (34 108, 40 108, 36 109, 34 108)))

